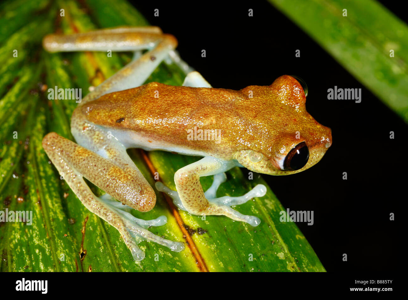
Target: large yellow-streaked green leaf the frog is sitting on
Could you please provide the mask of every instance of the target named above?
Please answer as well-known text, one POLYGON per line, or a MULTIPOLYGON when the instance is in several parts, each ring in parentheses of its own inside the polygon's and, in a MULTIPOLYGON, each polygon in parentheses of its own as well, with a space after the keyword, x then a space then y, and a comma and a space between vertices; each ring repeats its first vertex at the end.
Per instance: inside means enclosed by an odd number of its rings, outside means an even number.
MULTIPOLYGON (((156 206, 147 213, 134 211, 133 215, 143 219, 165 215, 168 223, 150 230, 170 240, 186 242, 186 249, 175 253, 158 244, 141 242, 139 246, 146 258, 135 262, 119 232, 82 205, 60 179, 41 146, 43 136, 50 131, 72 139, 69 121, 76 106, 75 100, 48 100, 47 89, 82 88, 85 95, 87 89, 113 75, 131 56, 129 53, 115 53, 112 58, 106 53, 51 54, 42 50, 41 38, 57 30, 72 33, 148 23, 123 0, 114 4, 106 0, 45 3, 47 9, 40 12, 38 7, 31 7, 42 19, 41 26, 34 18, 21 27, 17 19, 10 17, 10 22, 16 22, 10 28, 21 29, 16 33, 11 29, 4 31, 6 43, 0 48, 0 53, 5 55, 0 57, 14 66, 10 70, 0 69, 7 77, 0 81, 0 91, 4 93, 0 100, 0 120, 5 125, 0 135, 0 206, 3 210, 33 212, 32 225, 0 223, 1 271, 325 271, 296 224, 279 222, 279 212, 285 209, 269 188, 266 196, 237 207, 242 213, 259 216, 262 222, 258 227, 224 216, 204 219, 192 216, 176 209, 156 191, 156 206), (60 7, 65 9, 64 18, 55 13, 60 7), (51 24, 57 27, 50 30, 51 24), (40 29, 34 33, 36 26, 40 29), (15 41, 21 40, 19 37, 24 38, 27 47, 24 51, 40 52, 39 62, 29 64, 27 56, 16 61, 10 59, 10 49, 14 49, 15 41), (18 132, 17 139, 13 139, 14 131, 18 132), (198 233, 200 230, 202 234, 198 233)), ((18 9, 11 1, 2 7, 18 9)), ((24 13, 30 14, 29 8, 24 13)), ((183 80, 184 74, 177 66, 162 63, 146 82, 181 85, 183 80)), ((173 189, 175 171, 199 159, 137 149, 129 154, 152 186, 157 171, 164 184, 173 189)), ((247 180, 239 168, 228 171, 227 176, 228 181, 221 185, 218 196, 239 196, 256 184, 266 185, 259 174, 247 180)), ((212 176, 201 178, 201 182, 207 189, 212 176)), ((93 184, 90 186, 96 195, 103 193, 93 184)))

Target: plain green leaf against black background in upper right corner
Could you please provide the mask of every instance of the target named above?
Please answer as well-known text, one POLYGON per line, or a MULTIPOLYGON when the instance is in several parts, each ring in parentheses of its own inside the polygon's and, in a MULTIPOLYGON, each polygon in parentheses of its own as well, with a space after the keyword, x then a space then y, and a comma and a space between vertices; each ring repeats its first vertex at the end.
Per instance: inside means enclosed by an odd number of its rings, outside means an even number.
POLYGON ((404 22, 374 0, 269 2, 408 123, 408 27, 404 22), (390 50, 395 57, 390 57, 390 50))

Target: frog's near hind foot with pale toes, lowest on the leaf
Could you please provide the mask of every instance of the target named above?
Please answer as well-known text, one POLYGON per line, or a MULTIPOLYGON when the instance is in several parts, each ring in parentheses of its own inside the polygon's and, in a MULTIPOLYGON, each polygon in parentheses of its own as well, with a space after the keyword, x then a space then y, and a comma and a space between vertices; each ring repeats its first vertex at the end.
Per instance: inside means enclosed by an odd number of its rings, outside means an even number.
POLYGON ((142 220, 133 216, 130 211, 133 210, 128 205, 124 205, 121 202, 113 200, 109 194, 104 194, 99 197, 99 199, 106 204, 107 207, 118 215, 122 216, 122 222, 125 225, 125 230, 129 233, 129 236, 132 240, 126 240, 128 237, 122 234, 127 246, 129 247, 133 259, 136 261, 143 260, 145 257, 144 252, 137 246, 140 242, 148 240, 155 242, 157 244, 163 245, 172 251, 180 252, 184 249, 184 243, 182 242, 173 242, 171 240, 166 240, 160 236, 156 236, 151 233, 147 228, 163 226, 167 223, 166 216, 160 216, 154 220, 142 220), (129 243, 129 244, 128 244, 129 243))

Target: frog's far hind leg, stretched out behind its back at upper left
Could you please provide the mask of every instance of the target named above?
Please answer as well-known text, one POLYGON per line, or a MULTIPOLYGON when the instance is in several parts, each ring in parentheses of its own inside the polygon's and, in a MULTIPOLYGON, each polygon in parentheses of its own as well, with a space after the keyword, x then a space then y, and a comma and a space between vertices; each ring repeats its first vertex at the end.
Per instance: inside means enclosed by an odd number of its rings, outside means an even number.
POLYGON ((159 27, 120 27, 70 35, 51 34, 43 39, 43 47, 49 52, 133 51, 137 58, 141 50, 149 50, 98 85, 79 105, 107 93, 142 85, 160 62, 169 57, 185 72, 190 71, 191 68, 174 51, 176 46, 176 38, 162 33, 159 27))

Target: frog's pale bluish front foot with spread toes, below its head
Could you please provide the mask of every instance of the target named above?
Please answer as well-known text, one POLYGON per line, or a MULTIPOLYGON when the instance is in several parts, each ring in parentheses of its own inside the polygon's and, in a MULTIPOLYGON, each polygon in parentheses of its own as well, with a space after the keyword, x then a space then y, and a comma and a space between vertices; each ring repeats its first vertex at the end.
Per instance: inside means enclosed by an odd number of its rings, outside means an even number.
MULTIPOLYGON (((216 198, 217 189, 220 187, 220 184, 222 184, 222 182, 225 182, 225 181, 226 181, 225 173, 215 174, 213 184, 211 184, 211 187, 204 193, 205 198, 208 200, 211 206, 215 208, 216 210, 222 209, 226 211, 225 213, 226 216, 234 220, 247 222, 251 224, 252 226, 257 226, 261 222, 259 218, 255 216, 243 215, 242 213, 239 213, 238 211, 235 211, 234 209, 232 209, 231 206, 243 204, 247 202, 248 200, 251 200, 254 197, 265 196, 266 187, 263 184, 258 184, 256 187, 251 189, 251 191, 249 191, 243 196, 239 196, 239 197, 224 196, 224 197, 216 198)), ((188 211, 183 206, 182 200, 180 199, 180 196, 177 193, 177 191, 173 191, 169 189, 162 182, 156 182, 155 186, 158 191, 164 192, 167 195, 169 195, 169 197, 173 200, 173 203, 175 204, 175 206, 177 206, 181 210, 188 211)), ((189 212, 193 214, 197 214, 191 211, 189 212)))

